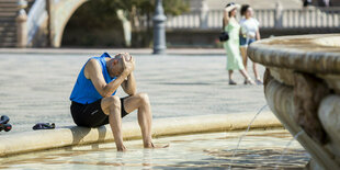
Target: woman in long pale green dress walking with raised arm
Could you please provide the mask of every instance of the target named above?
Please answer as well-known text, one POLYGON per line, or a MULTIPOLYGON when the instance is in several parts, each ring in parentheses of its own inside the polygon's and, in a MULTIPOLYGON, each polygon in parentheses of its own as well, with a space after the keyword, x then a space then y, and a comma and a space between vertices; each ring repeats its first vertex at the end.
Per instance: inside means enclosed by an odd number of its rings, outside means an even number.
POLYGON ((224 43, 224 47, 227 52, 227 70, 229 73, 229 84, 237 84, 233 80, 234 70, 239 70, 245 77, 246 82, 253 84, 254 82, 249 77, 239 50, 239 31, 240 25, 236 21, 235 16, 237 13, 238 5, 235 3, 228 3, 225 8, 224 18, 223 18, 223 29, 225 32, 228 32, 229 39, 224 43))

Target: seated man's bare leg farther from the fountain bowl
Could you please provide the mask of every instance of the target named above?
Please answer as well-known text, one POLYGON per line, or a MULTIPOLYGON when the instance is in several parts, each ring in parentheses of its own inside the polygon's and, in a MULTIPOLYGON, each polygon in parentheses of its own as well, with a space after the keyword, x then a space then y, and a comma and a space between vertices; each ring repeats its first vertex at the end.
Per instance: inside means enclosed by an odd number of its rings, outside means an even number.
POLYGON ((109 123, 118 151, 126 150, 123 145, 121 100, 118 97, 103 98, 101 102, 103 112, 109 115, 109 123))

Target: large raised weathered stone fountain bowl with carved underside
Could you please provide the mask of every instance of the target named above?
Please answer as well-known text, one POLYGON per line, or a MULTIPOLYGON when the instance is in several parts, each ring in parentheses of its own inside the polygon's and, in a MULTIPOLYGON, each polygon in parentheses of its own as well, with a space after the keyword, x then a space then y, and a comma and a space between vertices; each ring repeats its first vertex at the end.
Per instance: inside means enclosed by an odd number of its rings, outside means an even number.
POLYGON ((340 169, 340 34, 282 36, 253 43, 267 67, 264 94, 276 117, 310 154, 309 169, 340 169))

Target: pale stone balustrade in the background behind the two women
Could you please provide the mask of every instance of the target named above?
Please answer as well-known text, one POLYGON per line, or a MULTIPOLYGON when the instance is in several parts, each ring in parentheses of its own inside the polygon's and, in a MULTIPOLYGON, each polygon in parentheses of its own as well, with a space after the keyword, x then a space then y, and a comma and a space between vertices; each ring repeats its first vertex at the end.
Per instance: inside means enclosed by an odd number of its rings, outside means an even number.
MULTIPOLYGON (((254 18, 259 20, 262 29, 340 29, 340 8, 254 9, 254 18)), ((222 27, 222 20, 223 10, 208 10, 205 15, 202 15, 200 10, 193 10, 178 16, 169 15, 167 29, 217 30, 222 27)), ((141 25, 146 25, 146 22, 144 20, 141 25)))

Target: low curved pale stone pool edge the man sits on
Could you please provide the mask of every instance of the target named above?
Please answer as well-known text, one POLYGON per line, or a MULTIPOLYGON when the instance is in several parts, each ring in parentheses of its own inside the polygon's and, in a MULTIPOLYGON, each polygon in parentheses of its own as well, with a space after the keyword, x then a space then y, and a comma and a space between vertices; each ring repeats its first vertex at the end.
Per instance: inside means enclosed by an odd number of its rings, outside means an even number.
MULTIPOLYGON (((213 132, 229 132, 248 127, 253 113, 201 115, 155 120, 152 136, 174 136, 213 132)), ((262 113, 251 128, 282 127, 270 112, 262 113)), ((123 123, 124 140, 141 138, 137 122, 123 123)), ((110 125, 98 128, 79 126, 3 135, 0 138, 0 158, 38 150, 113 141, 110 125)))

